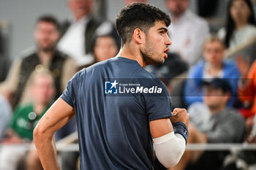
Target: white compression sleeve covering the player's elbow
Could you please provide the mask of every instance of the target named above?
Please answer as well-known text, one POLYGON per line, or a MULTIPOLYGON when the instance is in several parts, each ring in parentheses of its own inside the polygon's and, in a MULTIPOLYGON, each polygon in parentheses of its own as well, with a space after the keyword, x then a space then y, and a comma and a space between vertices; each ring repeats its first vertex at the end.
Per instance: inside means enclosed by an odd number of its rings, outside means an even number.
POLYGON ((184 137, 174 132, 155 138, 153 142, 158 161, 165 168, 176 166, 186 148, 184 137))

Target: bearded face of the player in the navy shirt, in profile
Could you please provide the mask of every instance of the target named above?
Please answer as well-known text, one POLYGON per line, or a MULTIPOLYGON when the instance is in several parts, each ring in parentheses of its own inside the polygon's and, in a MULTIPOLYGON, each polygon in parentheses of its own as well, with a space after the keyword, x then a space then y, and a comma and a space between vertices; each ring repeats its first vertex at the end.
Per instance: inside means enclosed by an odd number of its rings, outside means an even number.
POLYGON ((167 27, 163 22, 156 22, 153 27, 148 30, 146 39, 140 49, 146 64, 162 64, 167 58, 167 51, 171 45, 167 35, 167 27))

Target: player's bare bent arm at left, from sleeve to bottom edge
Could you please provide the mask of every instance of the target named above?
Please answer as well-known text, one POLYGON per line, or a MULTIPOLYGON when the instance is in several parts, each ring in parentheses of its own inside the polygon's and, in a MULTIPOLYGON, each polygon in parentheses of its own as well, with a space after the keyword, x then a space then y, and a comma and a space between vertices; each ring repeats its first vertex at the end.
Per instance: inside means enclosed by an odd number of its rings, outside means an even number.
POLYGON ((45 170, 58 170, 54 133, 64 126, 75 115, 73 107, 59 98, 34 129, 34 144, 45 170))

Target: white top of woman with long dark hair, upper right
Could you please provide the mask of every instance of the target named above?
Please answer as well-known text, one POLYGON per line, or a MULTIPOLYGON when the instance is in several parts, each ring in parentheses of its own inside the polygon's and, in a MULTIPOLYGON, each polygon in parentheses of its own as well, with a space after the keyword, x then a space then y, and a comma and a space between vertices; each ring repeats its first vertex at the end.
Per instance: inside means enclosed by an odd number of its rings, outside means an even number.
MULTIPOLYGON (((225 39, 226 30, 225 28, 221 28, 218 31, 218 36, 220 39, 225 39)), ((256 26, 252 26, 250 24, 235 30, 233 32, 233 38, 230 39, 230 46, 228 47, 229 50, 234 50, 237 47, 246 44, 249 40, 254 39, 256 37, 256 26)))

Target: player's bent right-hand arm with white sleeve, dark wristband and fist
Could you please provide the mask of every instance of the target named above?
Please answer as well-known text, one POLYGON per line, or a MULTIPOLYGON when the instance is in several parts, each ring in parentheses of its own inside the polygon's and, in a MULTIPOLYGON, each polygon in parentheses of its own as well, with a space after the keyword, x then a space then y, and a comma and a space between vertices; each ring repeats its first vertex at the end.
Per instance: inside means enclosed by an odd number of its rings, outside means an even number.
POLYGON ((174 109, 171 119, 164 118, 149 123, 157 158, 166 168, 176 166, 184 154, 188 124, 186 109, 174 109))

